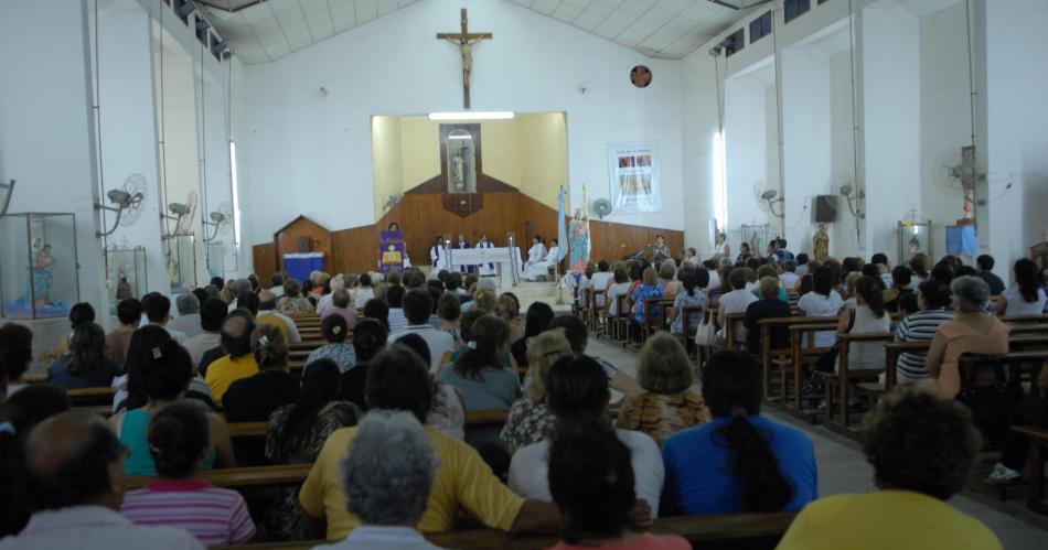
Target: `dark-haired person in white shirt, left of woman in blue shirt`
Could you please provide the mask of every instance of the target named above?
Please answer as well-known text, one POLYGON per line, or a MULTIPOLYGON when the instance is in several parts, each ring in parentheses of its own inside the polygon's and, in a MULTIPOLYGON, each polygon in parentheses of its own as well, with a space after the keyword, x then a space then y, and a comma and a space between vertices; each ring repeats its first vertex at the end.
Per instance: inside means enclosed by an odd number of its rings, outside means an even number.
MULTIPOLYGON (((557 362, 546 375, 546 403, 558 423, 591 422, 601 418, 610 397, 608 377, 592 357, 576 355, 569 362, 557 362)), ((665 478, 659 445, 642 432, 616 430, 616 434, 630 447, 637 499, 646 502, 651 517, 655 518, 665 478)), ((510 463, 510 488, 524 498, 553 502, 548 461, 548 440, 517 450, 510 463)))

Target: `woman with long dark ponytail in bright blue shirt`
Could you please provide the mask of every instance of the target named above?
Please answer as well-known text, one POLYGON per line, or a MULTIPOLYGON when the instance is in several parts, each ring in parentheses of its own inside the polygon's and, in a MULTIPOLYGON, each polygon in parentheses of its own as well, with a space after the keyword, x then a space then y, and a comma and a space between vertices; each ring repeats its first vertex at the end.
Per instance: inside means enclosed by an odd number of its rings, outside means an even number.
POLYGON ((713 420, 662 447, 666 492, 684 515, 799 510, 819 496, 811 440, 760 416, 763 386, 750 354, 714 354, 703 398, 713 420))

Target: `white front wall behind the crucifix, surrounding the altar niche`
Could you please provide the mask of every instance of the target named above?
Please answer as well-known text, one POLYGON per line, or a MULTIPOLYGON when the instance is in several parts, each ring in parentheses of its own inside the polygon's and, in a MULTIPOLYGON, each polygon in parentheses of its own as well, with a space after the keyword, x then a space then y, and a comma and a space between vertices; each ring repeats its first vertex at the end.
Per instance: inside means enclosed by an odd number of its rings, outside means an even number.
MULTIPOLYGON (((590 199, 608 196, 606 143, 659 141, 663 212, 612 214, 610 220, 683 229, 682 64, 644 57, 510 2, 468 0, 453 8, 460 6, 469 8, 472 28, 494 33, 473 50, 473 108, 566 111, 576 202, 582 185, 590 199), (645 89, 629 82, 638 63, 654 74, 645 89)), ((298 214, 331 229, 373 223, 370 117, 461 109, 461 58, 435 39, 436 30, 458 29, 453 8, 418 2, 246 67, 246 114, 236 133, 248 244, 270 241, 298 214)))

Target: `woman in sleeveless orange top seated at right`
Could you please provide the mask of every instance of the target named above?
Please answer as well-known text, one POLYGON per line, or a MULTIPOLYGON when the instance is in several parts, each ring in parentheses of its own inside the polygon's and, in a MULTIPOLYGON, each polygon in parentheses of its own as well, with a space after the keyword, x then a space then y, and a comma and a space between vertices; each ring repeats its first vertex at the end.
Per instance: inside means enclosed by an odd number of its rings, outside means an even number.
POLYGON ((1008 353, 1008 325, 986 312, 990 285, 977 277, 959 277, 950 283, 953 293, 953 321, 935 331, 928 352, 928 375, 938 380, 947 397, 961 391, 958 359, 966 353, 999 355, 1008 353))

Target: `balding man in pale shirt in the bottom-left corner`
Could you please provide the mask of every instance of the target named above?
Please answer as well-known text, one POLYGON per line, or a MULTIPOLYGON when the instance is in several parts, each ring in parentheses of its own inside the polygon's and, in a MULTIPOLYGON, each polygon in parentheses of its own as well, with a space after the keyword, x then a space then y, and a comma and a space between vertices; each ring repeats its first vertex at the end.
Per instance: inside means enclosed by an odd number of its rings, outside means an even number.
POLYGON ((36 509, 0 550, 188 550, 204 547, 186 531, 132 524, 119 514, 127 451, 98 416, 69 411, 41 422, 25 441, 30 490, 18 495, 36 509))

